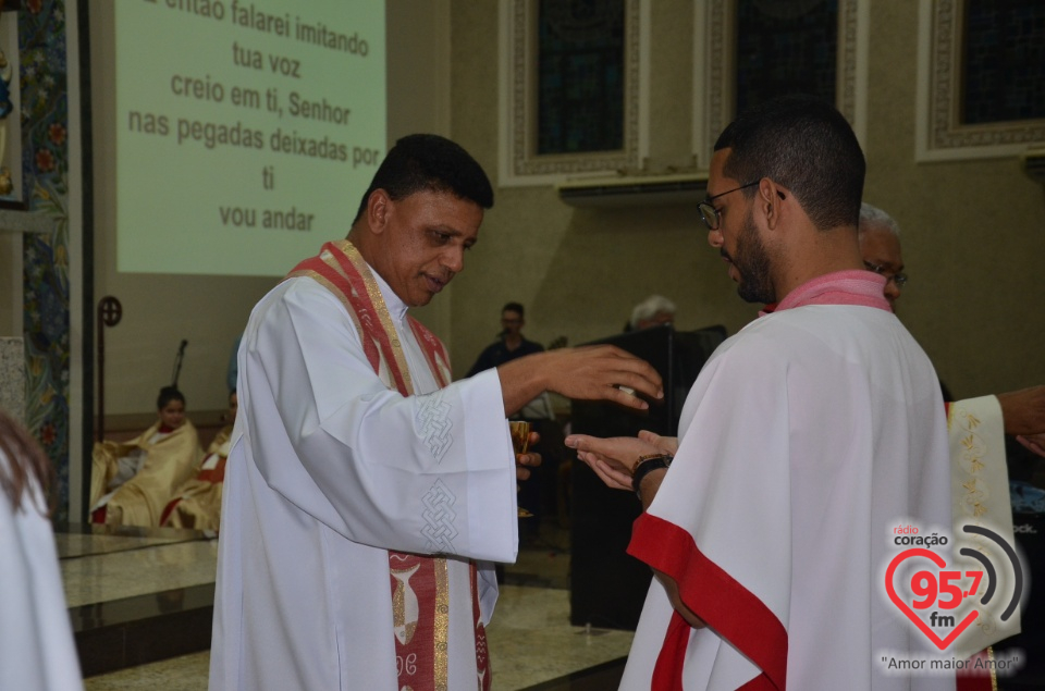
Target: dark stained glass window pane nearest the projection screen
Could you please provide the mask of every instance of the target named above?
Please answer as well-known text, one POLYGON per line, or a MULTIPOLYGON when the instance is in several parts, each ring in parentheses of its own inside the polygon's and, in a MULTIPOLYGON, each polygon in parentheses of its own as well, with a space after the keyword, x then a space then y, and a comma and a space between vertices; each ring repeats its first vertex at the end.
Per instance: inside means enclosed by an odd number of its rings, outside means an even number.
POLYGON ((537 152, 624 148, 624 0, 541 0, 537 152))

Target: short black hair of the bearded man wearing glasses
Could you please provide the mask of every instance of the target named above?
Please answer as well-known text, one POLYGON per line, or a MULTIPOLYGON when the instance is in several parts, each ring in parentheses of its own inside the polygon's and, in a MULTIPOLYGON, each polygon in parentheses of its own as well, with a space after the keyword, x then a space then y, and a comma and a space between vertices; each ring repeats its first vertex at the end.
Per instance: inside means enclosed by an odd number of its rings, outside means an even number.
POLYGON ((852 127, 831 103, 812 96, 759 103, 723 131, 715 143, 721 149, 733 149, 728 177, 741 185, 769 177, 788 187, 817 229, 858 224, 866 162, 852 127))

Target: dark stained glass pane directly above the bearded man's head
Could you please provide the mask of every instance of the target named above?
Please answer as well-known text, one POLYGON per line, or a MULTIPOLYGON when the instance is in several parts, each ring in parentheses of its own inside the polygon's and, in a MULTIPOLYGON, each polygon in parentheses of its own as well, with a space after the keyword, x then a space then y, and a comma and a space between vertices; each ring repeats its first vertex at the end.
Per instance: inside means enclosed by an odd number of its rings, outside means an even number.
POLYGON ((835 102, 838 0, 738 0, 737 112, 776 96, 835 102))

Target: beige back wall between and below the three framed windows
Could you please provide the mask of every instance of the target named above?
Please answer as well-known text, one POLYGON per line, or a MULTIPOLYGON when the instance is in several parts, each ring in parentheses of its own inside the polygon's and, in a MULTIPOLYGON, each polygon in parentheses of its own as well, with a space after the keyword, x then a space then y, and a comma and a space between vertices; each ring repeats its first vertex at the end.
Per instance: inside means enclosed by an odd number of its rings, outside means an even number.
MULTIPOLYGON (((651 11, 651 166, 690 150, 692 4, 651 11)), ((497 8, 452 3, 452 133, 497 170, 497 8)), ((871 7, 865 197, 902 227, 911 282, 899 314, 960 397, 1045 383, 1045 190, 1015 158, 914 162, 918 4, 871 7)), ((574 209, 551 187, 499 188, 479 245, 452 294, 450 345, 466 370, 499 331, 501 306, 527 307, 529 337, 570 343, 620 330, 661 293, 681 329, 753 318, 706 244, 696 209, 574 209)))

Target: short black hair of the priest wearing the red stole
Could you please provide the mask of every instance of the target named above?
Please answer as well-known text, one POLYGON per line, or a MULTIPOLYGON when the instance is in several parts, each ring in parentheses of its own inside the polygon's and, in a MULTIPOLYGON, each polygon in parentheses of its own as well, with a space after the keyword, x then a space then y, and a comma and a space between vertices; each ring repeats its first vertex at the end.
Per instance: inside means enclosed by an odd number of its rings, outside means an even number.
POLYGON ((395 143, 373 174, 353 223, 367 212, 376 189, 393 200, 422 190, 448 192, 483 209, 493 206, 493 187, 482 166, 459 144, 435 134, 411 134, 395 143))

